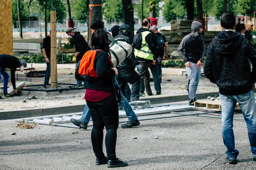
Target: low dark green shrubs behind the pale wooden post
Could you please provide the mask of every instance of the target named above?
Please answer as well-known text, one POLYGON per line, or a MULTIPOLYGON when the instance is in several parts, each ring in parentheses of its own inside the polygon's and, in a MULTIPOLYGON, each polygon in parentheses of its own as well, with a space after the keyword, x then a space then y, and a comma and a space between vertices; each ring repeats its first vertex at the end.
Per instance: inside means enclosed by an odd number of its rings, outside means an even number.
MULTIPOLYGON (((30 57, 20 56, 18 59, 25 59, 28 63, 46 63, 44 54, 32 54, 30 57)), ((63 54, 63 62, 64 63, 72 63, 73 56, 69 56, 67 54, 63 54)), ((57 63, 62 64, 62 54, 57 55, 57 63)))

